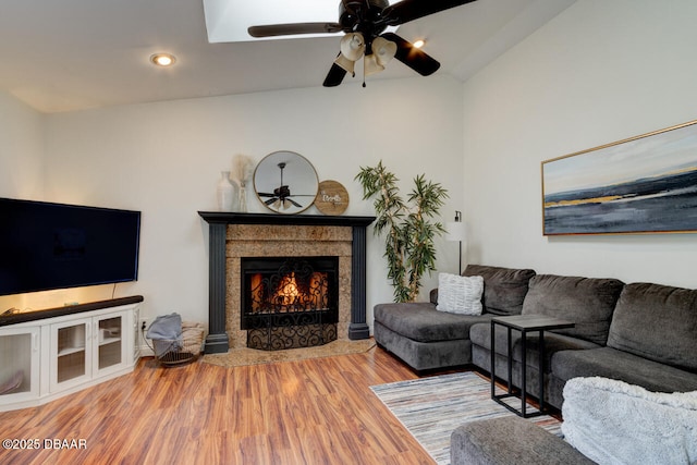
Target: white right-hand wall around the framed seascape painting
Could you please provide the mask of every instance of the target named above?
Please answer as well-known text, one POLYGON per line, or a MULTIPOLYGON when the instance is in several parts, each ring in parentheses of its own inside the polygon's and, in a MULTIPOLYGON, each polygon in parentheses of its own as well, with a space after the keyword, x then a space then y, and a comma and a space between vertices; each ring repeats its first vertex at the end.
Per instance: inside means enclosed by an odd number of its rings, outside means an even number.
POLYGON ((469 262, 697 287, 696 234, 543 237, 540 162, 697 119, 697 2, 584 0, 464 85, 469 262))

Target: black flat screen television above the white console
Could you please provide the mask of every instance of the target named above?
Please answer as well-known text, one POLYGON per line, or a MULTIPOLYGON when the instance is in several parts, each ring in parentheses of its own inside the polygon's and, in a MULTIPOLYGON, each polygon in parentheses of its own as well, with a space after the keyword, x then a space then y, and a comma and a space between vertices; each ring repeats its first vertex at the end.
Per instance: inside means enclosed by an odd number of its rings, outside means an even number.
POLYGON ((135 281, 140 212, 0 198, 0 295, 135 281))

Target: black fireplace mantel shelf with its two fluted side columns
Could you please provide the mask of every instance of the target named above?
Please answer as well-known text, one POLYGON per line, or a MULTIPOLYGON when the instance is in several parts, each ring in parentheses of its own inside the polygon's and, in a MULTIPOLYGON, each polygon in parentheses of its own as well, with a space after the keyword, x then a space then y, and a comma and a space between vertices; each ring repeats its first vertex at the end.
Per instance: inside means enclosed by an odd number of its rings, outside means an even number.
POLYGON ((229 350, 225 331, 225 237, 228 224, 288 224, 319 227, 351 227, 352 280, 351 323, 348 339, 368 339, 366 322, 366 228, 375 217, 322 216, 322 215, 267 215, 225 211, 199 211, 209 225, 208 315, 209 328, 205 351, 207 354, 229 350))

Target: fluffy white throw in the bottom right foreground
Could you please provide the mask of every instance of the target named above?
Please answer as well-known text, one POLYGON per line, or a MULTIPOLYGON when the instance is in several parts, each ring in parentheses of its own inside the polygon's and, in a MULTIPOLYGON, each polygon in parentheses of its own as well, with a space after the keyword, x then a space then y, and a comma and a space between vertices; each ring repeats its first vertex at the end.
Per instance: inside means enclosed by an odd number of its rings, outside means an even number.
POLYGON ((601 465, 697 462, 697 391, 574 378, 564 386, 562 415, 566 441, 601 465))

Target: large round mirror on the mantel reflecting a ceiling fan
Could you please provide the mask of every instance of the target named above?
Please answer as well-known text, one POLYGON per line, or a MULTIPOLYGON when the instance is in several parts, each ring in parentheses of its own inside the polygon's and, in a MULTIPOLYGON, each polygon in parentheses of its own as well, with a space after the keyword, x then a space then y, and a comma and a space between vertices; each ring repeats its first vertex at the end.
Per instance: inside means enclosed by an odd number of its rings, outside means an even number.
POLYGON ((269 210, 292 215, 308 209, 318 188, 315 167, 294 151, 267 155, 254 171, 254 192, 269 210))

